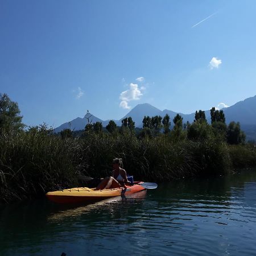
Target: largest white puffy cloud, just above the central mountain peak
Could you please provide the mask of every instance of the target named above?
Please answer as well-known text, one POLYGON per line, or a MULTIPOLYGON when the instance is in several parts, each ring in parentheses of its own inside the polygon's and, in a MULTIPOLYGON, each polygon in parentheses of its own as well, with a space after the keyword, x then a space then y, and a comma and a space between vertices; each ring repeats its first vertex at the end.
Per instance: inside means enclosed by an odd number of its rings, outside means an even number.
POLYGON ((121 102, 119 106, 123 109, 130 109, 130 106, 128 106, 128 102, 140 100, 142 95, 143 94, 141 93, 141 88, 138 87, 138 84, 131 83, 130 89, 120 93, 119 99, 121 100, 121 102))

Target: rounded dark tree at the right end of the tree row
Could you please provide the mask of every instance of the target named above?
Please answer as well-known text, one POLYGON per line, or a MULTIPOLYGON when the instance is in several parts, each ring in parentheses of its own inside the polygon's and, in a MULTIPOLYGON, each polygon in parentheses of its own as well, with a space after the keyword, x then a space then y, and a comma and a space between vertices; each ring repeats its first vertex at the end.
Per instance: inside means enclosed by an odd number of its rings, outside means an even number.
POLYGON ((245 133, 241 130, 239 122, 229 123, 226 136, 229 144, 240 144, 245 142, 245 133))

